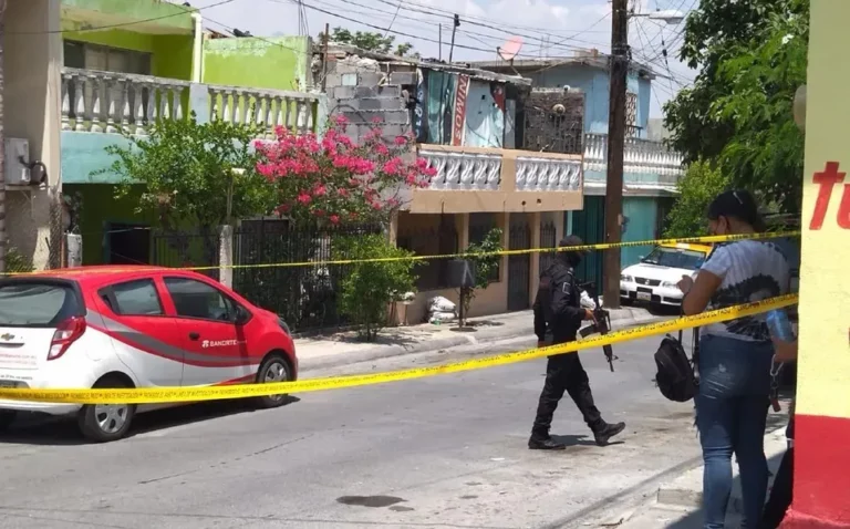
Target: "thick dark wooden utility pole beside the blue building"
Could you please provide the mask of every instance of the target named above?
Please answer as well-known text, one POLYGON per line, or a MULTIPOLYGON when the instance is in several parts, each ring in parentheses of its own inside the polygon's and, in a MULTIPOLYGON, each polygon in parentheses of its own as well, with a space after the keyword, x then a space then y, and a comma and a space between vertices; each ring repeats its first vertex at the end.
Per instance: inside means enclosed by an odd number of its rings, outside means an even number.
MULTIPOLYGON (((623 220, 623 149, 625 148, 625 83, 629 73, 629 0, 613 0, 611 25, 611 94, 608 112, 608 178, 605 242, 620 242, 623 220)), ((620 308, 620 248, 603 251, 603 300, 620 308)))

